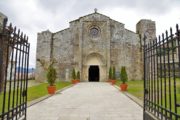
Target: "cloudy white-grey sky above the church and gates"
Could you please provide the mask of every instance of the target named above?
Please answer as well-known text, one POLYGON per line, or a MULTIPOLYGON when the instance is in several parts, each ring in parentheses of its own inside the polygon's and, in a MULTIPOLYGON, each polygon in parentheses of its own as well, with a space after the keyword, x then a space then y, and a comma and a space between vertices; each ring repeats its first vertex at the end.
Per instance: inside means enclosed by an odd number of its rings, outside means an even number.
POLYGON ((180 0, 0 0, 0 12, 29 36, 31 67, 35 67, 38 32, 65 29, 94 8, 134 32, 140 19, 156 21, 158 35, 180 23, 180 0))

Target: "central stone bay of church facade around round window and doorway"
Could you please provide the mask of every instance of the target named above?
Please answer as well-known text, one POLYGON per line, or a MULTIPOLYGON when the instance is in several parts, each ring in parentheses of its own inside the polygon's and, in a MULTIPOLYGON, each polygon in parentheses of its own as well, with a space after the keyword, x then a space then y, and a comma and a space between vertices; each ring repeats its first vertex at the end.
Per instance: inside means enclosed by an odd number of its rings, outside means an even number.
POLYGON ((109 17, 95 13, 80 19, 82 24, 82 79, 88 81, 91 65, 98 65, 100 81, 107 80, 107 66, 109 66, 110 52, 110 24, 109 17), (97 30, 97 35, 91 33, 97 30))

